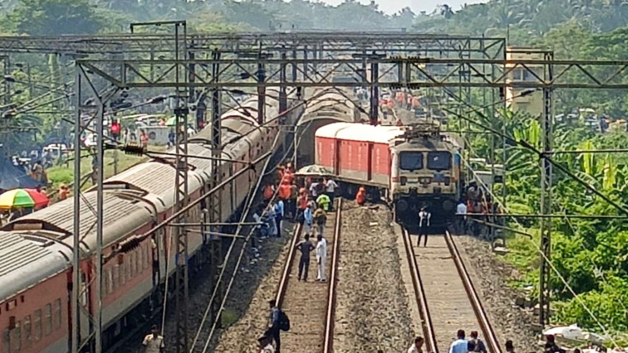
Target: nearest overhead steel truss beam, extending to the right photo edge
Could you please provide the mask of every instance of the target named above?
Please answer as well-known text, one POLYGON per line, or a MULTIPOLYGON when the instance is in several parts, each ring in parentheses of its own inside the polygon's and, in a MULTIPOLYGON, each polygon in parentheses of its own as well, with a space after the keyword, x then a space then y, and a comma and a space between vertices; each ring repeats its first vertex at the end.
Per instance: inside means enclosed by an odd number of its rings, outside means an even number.
MULTIPOLYGON (((355 53, 362 55, 362 52, 355 53)), ((220 77, 195 74, 194 87, 485 87, 517 89, 628 89, 628 61, 587 60, 506 60, 478 58, 226 58, 220 60, 77 60, 77 65, 95 72, 117 87, 178 87, 173 72, 188 72, 190 65, 209 67, 219 65, 220 77), (333 82, 327 77, 303 75, 295 82, 282 79, 282 67, 332 67, 332 76, 362 77, 357 69, 363 63, 378 65, 380 72, 401 72, 403 75, 380 75, 355 82, 333 82), (553 67, 554 75, 543 75, 553 67), (150 80, 141 72, 149 68, 163 72, 150 80), (488 67, 488 69, 487 69, 488 67), (260 70, 263 68, 263 70, 260 70), (496 73, 492 73, 494 70, 496 73), (264 73, 261 75, 260 72, 264 73), (512 80, 514 72, 523 73, 526 80, 512 80), (466 77, 460 80, 460 77, 466 77), (234 77, 244 77, 234 80, 234 77)), ((193 73, 190 73, 192 75, 193 73)))

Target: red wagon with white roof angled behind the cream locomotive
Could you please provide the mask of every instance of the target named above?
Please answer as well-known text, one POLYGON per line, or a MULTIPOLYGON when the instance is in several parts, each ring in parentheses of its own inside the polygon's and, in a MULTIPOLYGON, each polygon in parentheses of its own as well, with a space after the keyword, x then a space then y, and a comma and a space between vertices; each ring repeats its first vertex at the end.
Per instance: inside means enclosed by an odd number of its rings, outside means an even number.
POLYGON ((388 189, 391 140, 401 136, 398 126, 335 122, 316 131, 316 164, 340 180, 388 189))

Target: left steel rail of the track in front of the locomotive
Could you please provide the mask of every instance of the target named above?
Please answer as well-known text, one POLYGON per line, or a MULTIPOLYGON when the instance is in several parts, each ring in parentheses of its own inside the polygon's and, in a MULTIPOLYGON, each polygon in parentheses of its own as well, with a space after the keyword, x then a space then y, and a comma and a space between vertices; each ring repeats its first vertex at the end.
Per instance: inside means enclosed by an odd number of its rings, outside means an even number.
POLYGON ((421 327, 423 328, 423 336, 425 337, 425 345, 428 352, 438 353, 438 344, 436 344, 436 333, 431 322, 430 309, 425 298, 425 290, 423 290, 423 281, 419 273, 419 266, 416 263, 414 248, 412 247, 412 239, 408 230, 401 227, 403 232, 403 244, 406 247, 406 256, 412 276, 412 285, 414 286, 414 298, 419 308, 419 316, 421 317, 421 327))

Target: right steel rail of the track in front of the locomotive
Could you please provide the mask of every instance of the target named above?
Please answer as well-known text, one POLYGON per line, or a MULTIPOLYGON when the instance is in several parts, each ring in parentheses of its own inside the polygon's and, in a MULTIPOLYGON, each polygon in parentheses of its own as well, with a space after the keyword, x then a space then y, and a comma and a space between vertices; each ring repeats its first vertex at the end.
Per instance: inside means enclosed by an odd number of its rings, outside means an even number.
POLYGON ((465 290, 467 291, 467 295, 469 296, 469 300, 471 301, 475 316, 480 323, 480 329, 482 329, 484 339, 489 346, 489 352, 502 353, 502 349, 499 345, 499 340, 497 340, 495 330, 493 329, 492 325, 490 325, 490 320, 486 315, 484 307, 482 307, 482 301, 480 301, 480 297, 477 295, 477 291, 475 291, 475 287, 471 281, 471 277, 468 274, 467 268, 465 267, 465 264, 460 257, 460 253, 458 252, 456 244, 453 242, 452 235, 448 231, 445 231, 445 242, 447 242, 447 247, 452 253, 453 262, 456 264, 458 274, 460 274, 460 279, 462 279, 462 282, 465 286, 465 290))

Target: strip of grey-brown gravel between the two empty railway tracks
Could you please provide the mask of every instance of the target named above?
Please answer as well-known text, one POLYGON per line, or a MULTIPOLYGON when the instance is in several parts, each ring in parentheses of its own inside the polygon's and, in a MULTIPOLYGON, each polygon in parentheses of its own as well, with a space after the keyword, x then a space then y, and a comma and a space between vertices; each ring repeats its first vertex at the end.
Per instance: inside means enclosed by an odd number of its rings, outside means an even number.
POLYGON ((391 212, 344 205, 333 350, 404 352, 414 333, 391 212))

